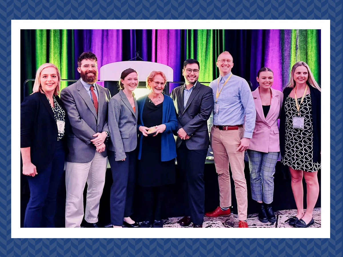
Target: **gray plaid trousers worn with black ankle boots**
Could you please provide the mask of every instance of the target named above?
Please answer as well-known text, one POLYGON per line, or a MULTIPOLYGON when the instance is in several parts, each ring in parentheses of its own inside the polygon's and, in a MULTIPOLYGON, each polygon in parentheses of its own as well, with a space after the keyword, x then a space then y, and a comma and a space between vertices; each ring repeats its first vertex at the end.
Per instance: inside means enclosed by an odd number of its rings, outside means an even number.
POLYGON ((262 201, 263 196, 264 203, 272 203, 274 194, 273 175, 279 153, 248 150, 252 199, 262 201))

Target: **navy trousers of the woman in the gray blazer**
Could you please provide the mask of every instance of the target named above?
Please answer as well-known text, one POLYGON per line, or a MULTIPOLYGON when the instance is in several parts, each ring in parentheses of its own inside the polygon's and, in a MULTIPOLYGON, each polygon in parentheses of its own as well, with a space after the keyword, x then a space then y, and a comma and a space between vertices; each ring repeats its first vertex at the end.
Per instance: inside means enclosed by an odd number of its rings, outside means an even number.
POLYGON ((124 217, 132 215, 135 186, 136 151, 125 152, 125 161, 116 161, 114 151, 107 151, 113 184, 110 194, 111 224, 121 226, 124 217))

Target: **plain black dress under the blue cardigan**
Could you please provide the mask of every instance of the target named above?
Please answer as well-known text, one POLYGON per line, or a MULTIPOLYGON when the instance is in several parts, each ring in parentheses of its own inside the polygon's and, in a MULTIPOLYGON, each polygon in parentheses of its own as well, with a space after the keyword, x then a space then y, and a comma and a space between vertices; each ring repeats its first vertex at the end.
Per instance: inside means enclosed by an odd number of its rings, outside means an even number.
MULTIPOLYGON (((163 102, 154 105, 147 97, 142 112, 145 127, 162 124, 163 102)), ((140 135, 143 136, 143 135, 140 135)), ((163 186, 175 183, 175 160, 161 161, 161 134, 143 136, 137 181, 140 186, 163 186)))

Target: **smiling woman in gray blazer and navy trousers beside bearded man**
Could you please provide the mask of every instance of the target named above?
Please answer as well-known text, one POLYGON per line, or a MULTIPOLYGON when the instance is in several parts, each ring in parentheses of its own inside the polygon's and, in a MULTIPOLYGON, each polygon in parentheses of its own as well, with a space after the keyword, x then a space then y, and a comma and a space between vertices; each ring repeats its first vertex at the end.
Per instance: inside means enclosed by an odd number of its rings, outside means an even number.
POLYGON ((113 184, 110 194, 111 224, 138 228, 130 218, 135 182, 138 106, 133 90, 138 86, 138 74, 133 69, 121 73, 118 94, 108 102, 108 161, 113 184))

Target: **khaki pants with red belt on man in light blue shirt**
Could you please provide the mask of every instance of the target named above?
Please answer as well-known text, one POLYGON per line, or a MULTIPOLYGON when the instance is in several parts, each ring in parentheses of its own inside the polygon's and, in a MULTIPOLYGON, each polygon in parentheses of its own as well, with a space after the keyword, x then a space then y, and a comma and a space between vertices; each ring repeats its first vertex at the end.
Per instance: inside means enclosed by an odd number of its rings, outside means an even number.
POLYGON ((213 126, 211 129, 211 147, 218 173, 220 206, 223 208, 231 206, 230 165, 232 179, 235 182, 239 220, 247 219, 248 209, 247 182, 244 176, 244 151, 236 151, 243 134, 243 127, 239 127, 238 130, 219 130, 213 126))

